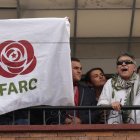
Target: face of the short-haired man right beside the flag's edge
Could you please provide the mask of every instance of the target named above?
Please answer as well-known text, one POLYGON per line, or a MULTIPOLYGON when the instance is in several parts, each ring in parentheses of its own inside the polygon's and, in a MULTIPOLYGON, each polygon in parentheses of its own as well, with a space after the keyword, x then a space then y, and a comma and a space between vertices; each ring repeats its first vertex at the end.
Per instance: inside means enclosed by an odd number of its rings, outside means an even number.
POLYGON ((82 66, 80 62, 72 61, 72 76, 73 76, 73 82, 78 82, 81 80, 82 76, 82 66))

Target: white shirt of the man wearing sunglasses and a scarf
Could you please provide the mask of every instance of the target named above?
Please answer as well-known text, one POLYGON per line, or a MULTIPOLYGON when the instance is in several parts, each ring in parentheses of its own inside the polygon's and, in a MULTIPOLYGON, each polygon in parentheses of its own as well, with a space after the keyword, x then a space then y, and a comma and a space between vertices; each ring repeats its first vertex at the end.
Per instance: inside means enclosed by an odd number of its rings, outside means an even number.
MULTIPOLYGON (((138 92, 137 88, 139 87, 139 76, 137 76, 137 80, 134 83, 134 105, 140 105, 140 94, 136 93, 138 92), (136 97, 137 95, 137 97, 136 97)), ((100 95, 99 101, 97 105, 111 105, 111 103, 113 102, 121 102, 122 105, 124 105, 124 101, 126 99, 126 96, 129 94, 130 92, 130 88, 129 89, 122 89, 119 91, 116 91, 114 89, 114 97, 112 96, 113 93, 113 88, 112 88, 112 84, 111 84, 111 79, 109 79, 106 84, 104 85, 103 91, 100 95)), ((137 123, 140 123, 140 110, 136 111, 136 117, 137 117, 137 123)), ((132 111, 132 120, 131 123, 134 123, 135 121, 135 117, 134 117, 134 112, 132 111)), ((116 124, 116 123, 122 123, 122 115, 121 115, 121 111, 114 111, 111 110, 107 119, 107 123, 108 124, 116 124)))

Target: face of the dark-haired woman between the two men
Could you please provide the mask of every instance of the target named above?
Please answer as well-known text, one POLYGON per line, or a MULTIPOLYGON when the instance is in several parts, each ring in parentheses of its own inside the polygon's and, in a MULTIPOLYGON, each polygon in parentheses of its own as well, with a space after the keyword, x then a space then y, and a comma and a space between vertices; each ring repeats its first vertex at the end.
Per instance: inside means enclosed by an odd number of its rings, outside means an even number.
POLYGON ((91 84, 95 87, 103 87, 106 83, 106 77, 100 70, 93 70, 90 73, 91 84))

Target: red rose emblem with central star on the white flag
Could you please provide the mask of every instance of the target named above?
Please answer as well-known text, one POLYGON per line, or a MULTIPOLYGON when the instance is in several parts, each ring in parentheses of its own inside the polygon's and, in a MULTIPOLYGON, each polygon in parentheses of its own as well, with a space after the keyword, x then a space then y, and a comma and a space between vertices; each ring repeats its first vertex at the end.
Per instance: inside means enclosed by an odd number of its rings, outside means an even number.
POLYGON ((8 40, 0 44, 0 75, 11 78, 28 74, 36 66, 32 45, 26 40, 8 40))

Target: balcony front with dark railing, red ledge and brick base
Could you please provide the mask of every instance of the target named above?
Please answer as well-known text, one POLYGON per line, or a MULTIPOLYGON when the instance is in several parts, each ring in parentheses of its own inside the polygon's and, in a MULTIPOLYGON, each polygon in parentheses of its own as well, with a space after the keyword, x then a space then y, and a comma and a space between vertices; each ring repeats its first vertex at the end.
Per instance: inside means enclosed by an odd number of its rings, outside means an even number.
MULTIPOLYGON (((137 116, 135 116, 134 124, 91 124, 91 111, 100 110, 105 112, 111 110, 109 106, 106 107, 34 107, 24 110, 27 112, 28 124, 15 125, 16 111, 11 112, 12 124, 0 125, 0 140, 138 140, 140 125, 136 124, 137 116), (31 117, 33 110, 40 110, 42 112, 42 124, 31 125, 31 117), (61 112, 64 110, 72 110, 74 115, 78 110, 88 110, 89 123, 88 124, 61 124, 61 112), (46 111, 57 112, 54 116, 58 118, 58 124, 46 124, 46 111)), ((136 110, 140 106, 125 106, 122 110, 136 110)), ((23 110, 19 110, 23 111, 23 110)), ((106 116, 106 114, 104 113, 106 116)))

